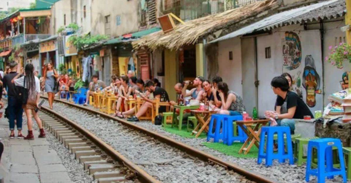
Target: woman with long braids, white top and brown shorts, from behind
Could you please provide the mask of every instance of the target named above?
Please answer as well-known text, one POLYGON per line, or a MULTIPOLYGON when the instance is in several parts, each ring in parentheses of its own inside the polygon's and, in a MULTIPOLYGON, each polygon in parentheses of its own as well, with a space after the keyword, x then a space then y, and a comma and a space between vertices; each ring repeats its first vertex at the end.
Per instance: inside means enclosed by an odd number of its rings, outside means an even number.
MULTIPOLYGON (((23 69, 21 69, 21 73, 23 74, 23 69)), ((40 130, 40 134, 38 137, 45 138, 45 132, 41 120, 38 116, 38 113, 35 112, 35 108, 39 108, 38 104, 40 100, 40 82, 39 78, 37 76, 34 76, 33 64, 26 65, 25 76, 20 77, 20 74, 18 74, 12 79, 11 82, 14 83, 16 86, 23 86, 25 83, 25 88, 28 90, 27 104, 24 104, 22 106, 26 112, 28 126, 28 135, 24 139, 34 140, 32 114, 34 116, 35 121, 37 121, 40 130)))

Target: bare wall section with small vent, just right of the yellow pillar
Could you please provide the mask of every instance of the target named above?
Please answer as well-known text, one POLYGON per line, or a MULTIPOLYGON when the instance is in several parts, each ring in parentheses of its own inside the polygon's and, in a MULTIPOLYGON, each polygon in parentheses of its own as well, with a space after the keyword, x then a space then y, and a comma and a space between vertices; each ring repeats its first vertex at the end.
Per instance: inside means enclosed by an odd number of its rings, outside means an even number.
POLYGON ((218 73, 223 81, 240 96, 243 95, 241 85, 241 43, 240 38, 232 38, 218 43, 218 73), (229 51, 233 52, 233 60, 229 60, 229 51))

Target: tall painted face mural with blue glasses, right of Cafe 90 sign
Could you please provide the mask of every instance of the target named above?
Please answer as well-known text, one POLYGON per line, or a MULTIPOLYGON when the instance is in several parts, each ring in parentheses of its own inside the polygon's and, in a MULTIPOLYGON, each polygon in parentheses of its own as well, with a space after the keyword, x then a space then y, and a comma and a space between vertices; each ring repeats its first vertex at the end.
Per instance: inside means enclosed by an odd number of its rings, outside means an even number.
POLYGON ((316 92, 320 87, 320 77, 316 70, 316 64, 312 55, 305 57, 302 85, 306 89, 306 104, 309 107, 316 106, 316 92))

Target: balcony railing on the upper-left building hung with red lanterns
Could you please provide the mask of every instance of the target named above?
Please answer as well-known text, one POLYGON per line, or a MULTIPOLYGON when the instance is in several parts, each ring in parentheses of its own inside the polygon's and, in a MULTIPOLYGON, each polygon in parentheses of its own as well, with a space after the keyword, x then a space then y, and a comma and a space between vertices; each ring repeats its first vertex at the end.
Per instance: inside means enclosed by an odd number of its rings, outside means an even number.
POLYGON ((13 37, 6 38, 4 40, 0 40, 0 49, 5 48, 13 48, 15 45, 23 44, 28 41, 33 40, 43 40, 49 38, 50 34, 20 34, 13 37))

